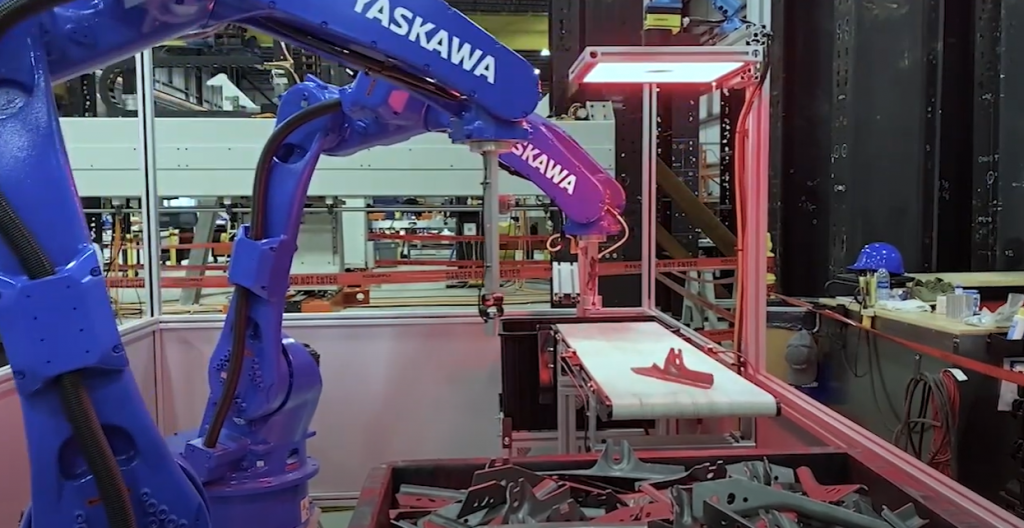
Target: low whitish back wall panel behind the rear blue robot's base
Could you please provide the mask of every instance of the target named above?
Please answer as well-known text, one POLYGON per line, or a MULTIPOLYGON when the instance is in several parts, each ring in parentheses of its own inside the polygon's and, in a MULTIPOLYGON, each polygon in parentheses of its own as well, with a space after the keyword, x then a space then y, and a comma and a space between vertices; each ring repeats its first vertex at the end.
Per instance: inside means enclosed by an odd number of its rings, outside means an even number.
MULTIPOLYGON (((202 421, 216 326, 161 331, 165 434, 202 421)), ((483 324, 287 327, 321 353, 324 393, 310 440, 322 468, 314 492, 357 492, 371 468, 390 460, 501 454, 499 343, 483 324)))

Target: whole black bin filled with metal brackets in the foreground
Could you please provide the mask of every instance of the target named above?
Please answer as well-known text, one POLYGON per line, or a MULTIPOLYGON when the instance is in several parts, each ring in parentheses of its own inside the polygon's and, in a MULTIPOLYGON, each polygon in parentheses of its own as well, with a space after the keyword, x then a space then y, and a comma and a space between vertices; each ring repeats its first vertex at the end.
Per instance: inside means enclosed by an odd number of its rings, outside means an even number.
POLYGON ((400 461, 371 473, 349 528, 958 525, 845 453, 751 453, 641 458, 615 441, 596 457, 400 461))

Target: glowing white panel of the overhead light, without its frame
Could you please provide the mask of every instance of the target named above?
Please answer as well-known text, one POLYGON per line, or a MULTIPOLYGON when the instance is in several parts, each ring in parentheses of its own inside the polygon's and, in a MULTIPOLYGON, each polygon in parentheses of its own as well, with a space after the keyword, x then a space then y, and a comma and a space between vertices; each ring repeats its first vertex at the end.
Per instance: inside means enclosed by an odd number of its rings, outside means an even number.
POLYGON ((743 62, 604 62, 581 83, 713 83, 743 68, 743 62))

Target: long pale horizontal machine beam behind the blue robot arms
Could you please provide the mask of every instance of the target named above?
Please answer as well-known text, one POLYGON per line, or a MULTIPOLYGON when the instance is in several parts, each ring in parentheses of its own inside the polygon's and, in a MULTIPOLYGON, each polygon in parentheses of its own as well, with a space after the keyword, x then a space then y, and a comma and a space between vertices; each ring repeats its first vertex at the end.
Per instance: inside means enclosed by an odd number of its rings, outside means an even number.
MULTIPOLYGON (((61 120, 79 192, 84 196, 134 196, 144 188, 139 169, 138 123, 132 119, 61 120)), ((602 167, 612 169, 614 123, 564 122, 564 129, 602 167)), ((158 188, 163 196, 247 196, 263 142, 266 119, 160 118, 157 120, 158 188)), ((479 195, 482 162, 442 134, 371 148, 348 158, 321 160, 309 193, 319 196, 479 195)), ((541 194, 507 174, 503 193, 541 194)))

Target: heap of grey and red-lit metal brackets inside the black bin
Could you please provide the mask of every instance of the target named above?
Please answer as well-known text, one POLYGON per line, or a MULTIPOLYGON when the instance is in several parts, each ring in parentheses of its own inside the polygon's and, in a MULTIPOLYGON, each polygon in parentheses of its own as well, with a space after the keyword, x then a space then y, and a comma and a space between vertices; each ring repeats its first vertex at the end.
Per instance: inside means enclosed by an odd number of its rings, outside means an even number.
POLYGON ((690 468, 645 463, 628 444, 614 442, 587 470, 536 473, 493 460, 473 475, 468 489, 403 484, 390 514, 399 528, 919 528, 927 523, 913 504, 877 512, 865 491, 858 484, 822 485, 806 467, 767 460, 690 468))

